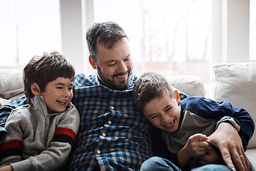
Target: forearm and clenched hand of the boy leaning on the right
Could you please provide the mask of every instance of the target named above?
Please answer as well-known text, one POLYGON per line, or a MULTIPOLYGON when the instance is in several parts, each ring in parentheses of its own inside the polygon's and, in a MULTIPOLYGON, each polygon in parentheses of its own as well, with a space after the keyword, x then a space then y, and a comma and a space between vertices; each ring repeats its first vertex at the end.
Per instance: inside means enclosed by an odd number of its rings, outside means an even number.
POLYGON ((200 133, 192 135, 187 140, 187 144, 177 154, 179 167, 184 168, 193 157, 205 155, 206 148, 209 147, 206 135, 200 133))

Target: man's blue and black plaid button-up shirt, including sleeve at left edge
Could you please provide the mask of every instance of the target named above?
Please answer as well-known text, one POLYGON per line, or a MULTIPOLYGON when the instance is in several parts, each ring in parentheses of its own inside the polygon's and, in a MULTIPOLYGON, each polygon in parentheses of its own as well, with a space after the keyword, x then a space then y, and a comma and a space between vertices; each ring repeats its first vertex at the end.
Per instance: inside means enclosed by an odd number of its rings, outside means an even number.
MULTIPOLYGON (((151 125, 132 98, 136 79, 132 73, 126 90, 112 90, 99 83, 97 73, 77 74, 72 103, 81 121, 68 170, 93 170, 97 163, 101 170, 139 170, 152 157, 151 125)), ((1 139, 9 113, 25 103, 22 97, 0 108, 1 139)))

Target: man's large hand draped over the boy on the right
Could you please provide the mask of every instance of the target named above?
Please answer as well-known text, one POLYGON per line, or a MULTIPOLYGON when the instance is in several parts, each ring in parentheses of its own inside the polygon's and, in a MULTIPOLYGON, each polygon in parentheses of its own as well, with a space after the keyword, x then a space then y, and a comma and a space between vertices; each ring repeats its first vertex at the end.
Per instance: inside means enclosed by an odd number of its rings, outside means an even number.
POLYGON ((249 171, 249 163, 237 130, 230 123, 221 123, 209 142, 220 149, 223 160, 232 170, 249 171))

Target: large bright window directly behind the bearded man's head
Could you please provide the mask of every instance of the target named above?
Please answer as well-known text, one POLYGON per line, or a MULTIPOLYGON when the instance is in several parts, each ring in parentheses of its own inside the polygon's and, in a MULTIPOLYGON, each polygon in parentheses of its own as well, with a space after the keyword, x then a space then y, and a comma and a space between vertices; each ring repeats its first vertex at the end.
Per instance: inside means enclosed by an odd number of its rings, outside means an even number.
POLYGON ((94 19, 124 28, 138 76, 157 71, 210 83, 211 0, 94 0, 94 19))

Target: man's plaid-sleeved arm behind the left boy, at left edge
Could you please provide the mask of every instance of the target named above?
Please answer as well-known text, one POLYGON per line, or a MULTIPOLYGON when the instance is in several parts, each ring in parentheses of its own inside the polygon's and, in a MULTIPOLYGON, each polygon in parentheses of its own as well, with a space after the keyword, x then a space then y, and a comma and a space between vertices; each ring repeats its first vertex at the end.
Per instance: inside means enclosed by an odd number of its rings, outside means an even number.
POLYGON ((6 124, 7 118, 11 113, 11 110, 24 104, 26 104, 26 98, 25 96, 22 96, 21 98, 18 98, 14 101, 11 101, 10 103, 7 103, 6 105, 1 106, 0 108, 0 144, 4 141, 4 138, 6 136, 6 130, 4 126, 6 124))

